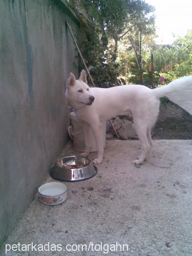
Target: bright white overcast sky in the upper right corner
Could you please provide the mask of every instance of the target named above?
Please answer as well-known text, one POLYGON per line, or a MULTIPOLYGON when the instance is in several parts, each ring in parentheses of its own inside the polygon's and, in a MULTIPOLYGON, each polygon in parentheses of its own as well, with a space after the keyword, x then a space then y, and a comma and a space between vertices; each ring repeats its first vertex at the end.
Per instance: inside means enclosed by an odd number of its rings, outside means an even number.
POLYGON ((192 29, 192 0, 145 0, 156 9, 156 44, 172 44, 173 34, 185 35, 192 29))

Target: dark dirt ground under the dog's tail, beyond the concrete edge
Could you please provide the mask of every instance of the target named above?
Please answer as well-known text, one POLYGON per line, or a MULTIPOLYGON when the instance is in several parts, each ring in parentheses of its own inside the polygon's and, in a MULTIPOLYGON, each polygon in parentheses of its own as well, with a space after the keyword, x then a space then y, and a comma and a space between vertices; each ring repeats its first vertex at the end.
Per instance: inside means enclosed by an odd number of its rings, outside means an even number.
POLYGON ((153 139, 192 139, 192 116, 173 102, 163 100, 152 136, 153 139))

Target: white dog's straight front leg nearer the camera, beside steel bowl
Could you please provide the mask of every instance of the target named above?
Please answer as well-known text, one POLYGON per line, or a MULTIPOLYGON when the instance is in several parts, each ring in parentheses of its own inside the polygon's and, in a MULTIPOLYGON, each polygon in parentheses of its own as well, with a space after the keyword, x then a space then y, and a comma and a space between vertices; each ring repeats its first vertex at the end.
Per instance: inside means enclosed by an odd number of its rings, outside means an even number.
POLYGON ((91 127, 97 145, 97 158, 93 160, 93 163, 100 164, 103 159, 102 125, 98 122, 96 125, 91 127))

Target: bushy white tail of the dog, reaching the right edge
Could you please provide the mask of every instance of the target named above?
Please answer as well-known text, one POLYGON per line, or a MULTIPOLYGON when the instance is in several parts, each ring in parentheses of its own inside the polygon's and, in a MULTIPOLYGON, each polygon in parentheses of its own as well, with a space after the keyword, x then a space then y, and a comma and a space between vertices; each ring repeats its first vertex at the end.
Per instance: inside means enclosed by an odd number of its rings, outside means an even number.
POLYGON ((157 98, 166 96, 192 115, 192 76, 185 76, 167 86, 153 89, 153 93, 157 98))

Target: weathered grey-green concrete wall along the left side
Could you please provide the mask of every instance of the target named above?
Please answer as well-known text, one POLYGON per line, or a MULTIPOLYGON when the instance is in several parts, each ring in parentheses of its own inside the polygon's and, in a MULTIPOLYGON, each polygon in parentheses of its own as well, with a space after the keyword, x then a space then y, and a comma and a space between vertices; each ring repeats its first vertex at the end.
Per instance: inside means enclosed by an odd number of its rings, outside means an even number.
POLYGON ((0 244, 67 140, 65 82, 78 73, 61 1, 0 1, 0 244))

